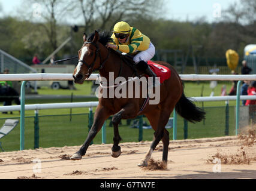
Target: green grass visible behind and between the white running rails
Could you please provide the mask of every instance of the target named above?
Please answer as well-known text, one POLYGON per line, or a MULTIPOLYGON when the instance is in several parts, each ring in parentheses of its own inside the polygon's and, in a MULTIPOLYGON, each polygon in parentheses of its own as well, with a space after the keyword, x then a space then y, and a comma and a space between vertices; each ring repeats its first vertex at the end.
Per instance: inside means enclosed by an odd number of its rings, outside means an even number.
MULTIPOLYGON (((223 82, 222 82, 223 83, 223 82)), ((221 87, 224 84, 218 84, 215 88, 215 96, 220 96, 221 87)), ((227 91, 231 88, 231 83, 227 83, 227 91)), ((201 96, 201 90, 204 87, 203 96, 209 96, 211 89, 209 82, 185 82, 185 95, 187 97, 201 96)), ((89 95, 91 94, 91 82, 86 82, 83 85, 76 85, 77 90, 50 90, 41 88, 38 90, 40 95, 89 95)), ((97 98, 74 99, 73 101, 97 101, 97 98)), ((26 104, 34 103, 64 103, 70 102, 70 99, 52 99, 52 100, 26 100, 26 104)), ((196 103, 202 106, 202 103, 196 103)), ((234 135, 234 106, 235 101, 230 101, 229 125, 230 135, 234 135)), ((188 123, 188 138, 203 138, 203 137, 219 137, 223 136, 225 131, 225 101, 209 101, 204 102, 206 110, 206 120, 197 124, 188 123)), ((88 113, 88 108, 72 109, 73 114, 88 113)), ((40 147, 62 147, 81 145, 88 135, 88 115, 73 115, 70 121, 70 116, 62 116, 70 114, 70 109, 49 109, 40 110, 39 127, 40 127, 40 147), (47 116, 46 116, 47 115, 47 116), (49 116, 58 115, 58 116, 49 116)), ((34 111, 25 112, 25 149, 34 149, 34 111), (30 117, 29 117, 30 116, 30 117)), ((13 115, 0 114, 0 124, 4 124, 5 118, 19 119, 19 112, 13 112, 13 115), (3 119, 4 118, 4 119, 3 119)), ((109 127, 107 120, 106 137, 107 143, 113 143, 113 128, 109 127)), ((144 118, 144 121, 147 121, 144 118)), ((126 121, 122 120, 119 127, 119 133, 122 137, 122 142, 138 141, 138 129, 129 128, 126 121)), ((177 139, 183 139, 183 119, 177 118, 177 139)), ((6 151, 19 150, 20 144, 20 124, 11 131, 10 134, 1 138, 2 146, 6 151)), ((173 130, 170 132, 170 139, 173 137, 173 130)), ((143 140, 152 140, 153 130, 143 130, 143 140)), ((95 144, 101 143, 101 131, 94 138, 95 144)))

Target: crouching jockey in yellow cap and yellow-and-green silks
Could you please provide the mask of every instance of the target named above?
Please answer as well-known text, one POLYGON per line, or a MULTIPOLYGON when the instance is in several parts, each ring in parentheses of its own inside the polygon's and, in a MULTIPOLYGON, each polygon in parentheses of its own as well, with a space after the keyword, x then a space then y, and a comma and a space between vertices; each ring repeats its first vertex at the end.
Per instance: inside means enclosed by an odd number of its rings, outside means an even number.
MULTIPOLYGON (((119 50, 123 54, 137 53, 133 58, 136 68, 146 75, 156 78, 155 73, 147 65, 147 61, 155 55, 155 47, 146 35, 129 26, 125 21, 120 21, 115 24, 111 38, 113 42, 108 43, 107 48, 119 50)), ((153 86, 154 84, 153 81, 153 86)))

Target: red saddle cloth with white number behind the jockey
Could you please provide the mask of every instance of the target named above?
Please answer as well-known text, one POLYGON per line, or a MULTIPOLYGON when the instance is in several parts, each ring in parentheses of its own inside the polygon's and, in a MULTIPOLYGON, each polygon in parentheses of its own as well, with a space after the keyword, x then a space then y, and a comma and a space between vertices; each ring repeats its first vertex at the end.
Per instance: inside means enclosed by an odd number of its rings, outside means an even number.
POLYGON ((151 70, 155 72, 156 76, 160 77, 161 84, 162 82, 165 81, 165 79, 170 78, 171 70, 168 69, 168 67, 162 66, 161 64, 153 63, 153 61, 151 60, 147 61, 147 64, 149 64, 149 67, 151 68, 151 70))

